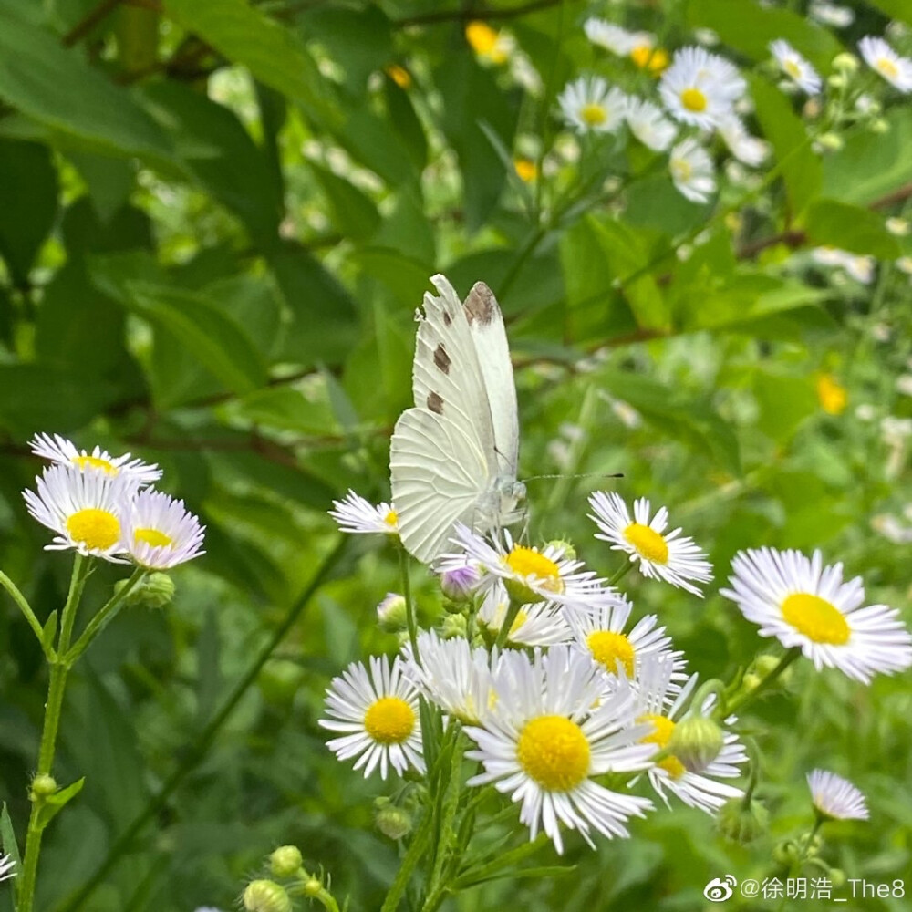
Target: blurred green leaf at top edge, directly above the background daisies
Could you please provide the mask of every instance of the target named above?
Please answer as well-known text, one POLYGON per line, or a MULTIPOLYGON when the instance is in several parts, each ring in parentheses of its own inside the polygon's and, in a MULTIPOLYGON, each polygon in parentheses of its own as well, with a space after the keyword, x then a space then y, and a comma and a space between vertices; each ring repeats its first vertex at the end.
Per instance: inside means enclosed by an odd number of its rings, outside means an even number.
POLYGON ((843 49, 832 32, 812 19, 754 0, 740 0, 737 15, 732 15, 730 0, 689 0, 687 16, 691 26, 711 28, 724 44, 753 60, 769 59, 770 42, 784 38, 825 73, 843 49))

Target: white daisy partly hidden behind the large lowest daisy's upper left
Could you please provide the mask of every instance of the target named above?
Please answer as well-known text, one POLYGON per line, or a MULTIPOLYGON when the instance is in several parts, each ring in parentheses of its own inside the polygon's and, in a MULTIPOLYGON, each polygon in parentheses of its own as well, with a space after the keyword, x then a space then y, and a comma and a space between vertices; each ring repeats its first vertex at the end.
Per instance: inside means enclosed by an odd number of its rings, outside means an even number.
POLYGON ((402 652, 403 673, 428 700, 465 725, 482 722, 494 702, 496 653, 472 648, 464 639, 441 639, 433 630, 418 635, 420 663, 412 657, 410 643, 402 652))

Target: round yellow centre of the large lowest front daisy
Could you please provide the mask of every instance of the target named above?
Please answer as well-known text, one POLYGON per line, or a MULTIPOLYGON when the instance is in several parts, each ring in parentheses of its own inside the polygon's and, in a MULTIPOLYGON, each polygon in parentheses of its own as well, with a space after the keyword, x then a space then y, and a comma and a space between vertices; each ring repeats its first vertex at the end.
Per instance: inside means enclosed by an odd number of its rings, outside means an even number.
POLYGON ((549 792, 569 792, 589 773, 589 742, 564 716, 539 716, 526 722, 516 742, 516 759, 549 792))

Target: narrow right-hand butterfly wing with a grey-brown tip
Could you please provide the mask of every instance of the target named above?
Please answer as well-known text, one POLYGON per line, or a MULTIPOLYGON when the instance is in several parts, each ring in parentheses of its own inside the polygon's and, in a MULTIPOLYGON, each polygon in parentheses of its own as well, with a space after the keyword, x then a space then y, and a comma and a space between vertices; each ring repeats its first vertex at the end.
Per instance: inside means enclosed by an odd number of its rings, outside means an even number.
POLYGON ((498 457, 498 474, 515 481, 519 459, 519 419, 503 314, 492 290, 483 282, 472 285, 464 310, 484 378, 498 457))

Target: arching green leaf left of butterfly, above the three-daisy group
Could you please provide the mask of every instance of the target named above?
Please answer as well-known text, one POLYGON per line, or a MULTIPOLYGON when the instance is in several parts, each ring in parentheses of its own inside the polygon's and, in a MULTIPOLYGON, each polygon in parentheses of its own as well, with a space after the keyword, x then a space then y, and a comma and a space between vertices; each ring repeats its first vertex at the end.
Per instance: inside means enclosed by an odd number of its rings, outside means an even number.
POLYGON ((130 310, 171 333, 228 389, 247 393, 264 385, 262 356, 211 298, 139 281, 127 283, 127 295, 130 310))

